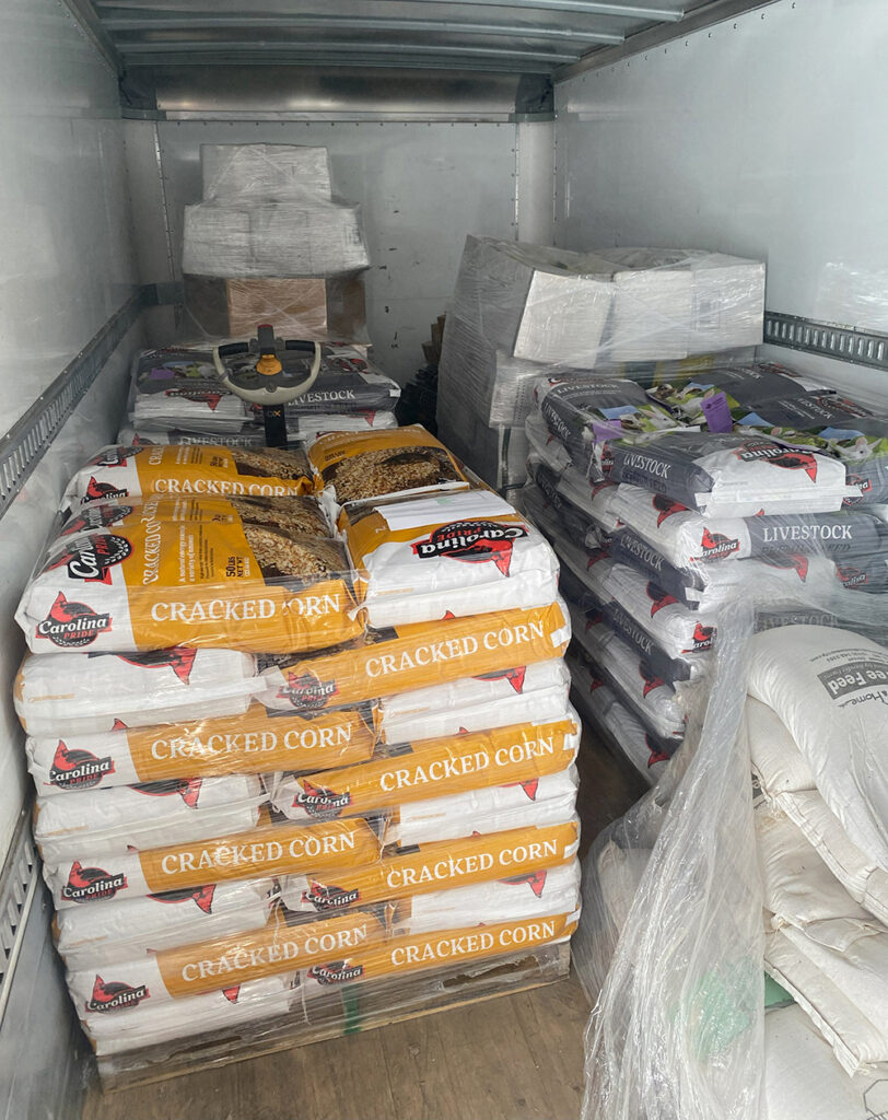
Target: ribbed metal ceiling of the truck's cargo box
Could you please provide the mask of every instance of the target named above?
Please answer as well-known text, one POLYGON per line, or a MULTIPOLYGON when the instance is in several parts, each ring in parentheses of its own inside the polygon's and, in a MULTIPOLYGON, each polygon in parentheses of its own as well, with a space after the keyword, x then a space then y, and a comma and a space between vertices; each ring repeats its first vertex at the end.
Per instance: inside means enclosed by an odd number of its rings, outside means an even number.
POLYGON ((558 77, 772 0, 66 0, 125 74, 298 65, 558 77), (688 29, 691 29, 689 26, 688 29))

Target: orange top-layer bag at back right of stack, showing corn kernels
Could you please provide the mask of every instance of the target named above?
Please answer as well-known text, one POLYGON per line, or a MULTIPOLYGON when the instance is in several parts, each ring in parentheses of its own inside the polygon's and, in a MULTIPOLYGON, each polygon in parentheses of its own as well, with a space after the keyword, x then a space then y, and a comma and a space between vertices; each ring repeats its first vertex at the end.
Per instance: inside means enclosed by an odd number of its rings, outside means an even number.
POLYGON ((308 451, 315 485, 330 510, 396 494, 468 489, 447 448, 421 424, 371 432, 333 432, 308 451))

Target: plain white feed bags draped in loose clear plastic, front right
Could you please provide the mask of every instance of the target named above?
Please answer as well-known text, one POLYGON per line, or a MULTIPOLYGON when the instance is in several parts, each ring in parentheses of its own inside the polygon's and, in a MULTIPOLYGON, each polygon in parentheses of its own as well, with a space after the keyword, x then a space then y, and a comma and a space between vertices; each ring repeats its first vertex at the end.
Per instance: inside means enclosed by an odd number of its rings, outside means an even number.
MULTIPOLYGON (((758 598, 767 604, 766 595, 758 598)), ((763 1089, 768 1102, 776 1089, 769 1071, 763 1082, 765 968, 789 984, 849 1073, 875 1076, 872 1063, 885 1061, 878 1030, 887 973, 872 905, 888 881, 876 855, 888 838, 888 778, 879 760, 885 597, 835 591, 830 603, 814 596, 783 617, 754 608, 751 598, 738 597, 720 609, 710 688, 692 693, 681 752, 654 790, 601 833, 583 866, 574 959, 596 1005, 587 1032, 590 1120, 765 1114, 763 1089), (759 699, 747 700, 747 680, 759 699), (815 832, 792 843, 770 836, 763 847, 750 763, 757 776, 767 775, 769 811, 811 797, 806 787, 816 782, 819 796, 843 806, 848 827, 864 830, 875 877, 869 894, 856 895, 862 911, 845 894, 853 879, 832 880, 829 890, 811 886, 813 852, 793 869, 792 853, 815 832), (775 874, 784 876, 782 887, 775 874), (768 907, 789 917, 769 918, 768 907)), ((798 824, 792 814, 785 820, 784 828, 798 824)), ((821 857, 831 850, 825 844, 821 857)), ((848 844, 847 833, 843 846, 834 838, 833 851, 847 855, 848 844)), ((836 868, 841 862, 816 874, 823 879, 836 868)), ((770 1040, 767 1054, 769 1063, 770 1040)))

